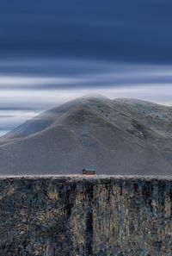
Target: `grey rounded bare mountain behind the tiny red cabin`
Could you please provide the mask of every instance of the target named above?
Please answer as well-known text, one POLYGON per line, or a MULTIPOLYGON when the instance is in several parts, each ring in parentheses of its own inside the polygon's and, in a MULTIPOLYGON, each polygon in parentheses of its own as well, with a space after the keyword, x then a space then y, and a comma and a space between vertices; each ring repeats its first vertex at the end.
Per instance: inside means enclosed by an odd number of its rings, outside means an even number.
POLYGON ((172 174, 172 108, 81 97, 0 138, 0 174, 172 174))

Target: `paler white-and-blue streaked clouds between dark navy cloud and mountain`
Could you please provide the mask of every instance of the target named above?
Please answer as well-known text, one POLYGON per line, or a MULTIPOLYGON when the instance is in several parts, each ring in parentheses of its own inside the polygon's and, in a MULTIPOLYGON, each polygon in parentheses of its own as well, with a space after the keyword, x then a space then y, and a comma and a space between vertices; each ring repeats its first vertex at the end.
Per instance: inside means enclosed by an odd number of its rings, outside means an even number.
POLYGON ((43 110, 88 93, 172 105, 170 65, 25 59, 4 61, 0 66, 1 134, 43 110))

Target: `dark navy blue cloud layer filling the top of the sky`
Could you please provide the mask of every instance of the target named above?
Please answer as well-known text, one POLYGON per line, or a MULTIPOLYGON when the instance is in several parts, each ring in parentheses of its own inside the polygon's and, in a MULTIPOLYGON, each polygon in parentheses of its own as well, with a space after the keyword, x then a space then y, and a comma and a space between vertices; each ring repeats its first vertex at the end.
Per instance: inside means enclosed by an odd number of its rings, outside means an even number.
POLYGON ((172 63, 170 0, 15 0, 0 9, 0 57, 172 63))

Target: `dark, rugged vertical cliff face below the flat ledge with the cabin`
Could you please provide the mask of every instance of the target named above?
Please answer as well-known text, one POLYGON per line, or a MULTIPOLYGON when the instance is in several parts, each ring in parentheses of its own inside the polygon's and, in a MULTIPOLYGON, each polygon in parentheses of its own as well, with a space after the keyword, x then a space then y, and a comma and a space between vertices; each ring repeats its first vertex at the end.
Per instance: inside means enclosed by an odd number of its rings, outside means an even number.
POLYGON ((0 255, 172 255, 172 179, 0 179, 0 255))

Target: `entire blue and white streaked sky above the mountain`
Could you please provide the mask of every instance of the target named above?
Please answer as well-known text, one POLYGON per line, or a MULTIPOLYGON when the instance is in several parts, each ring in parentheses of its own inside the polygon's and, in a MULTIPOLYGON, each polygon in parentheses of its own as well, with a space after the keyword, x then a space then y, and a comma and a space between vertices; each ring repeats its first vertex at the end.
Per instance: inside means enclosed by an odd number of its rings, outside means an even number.
POLYGON ((5 0, 0 135, 75 97, 172 106, 169 0, 5 0))

